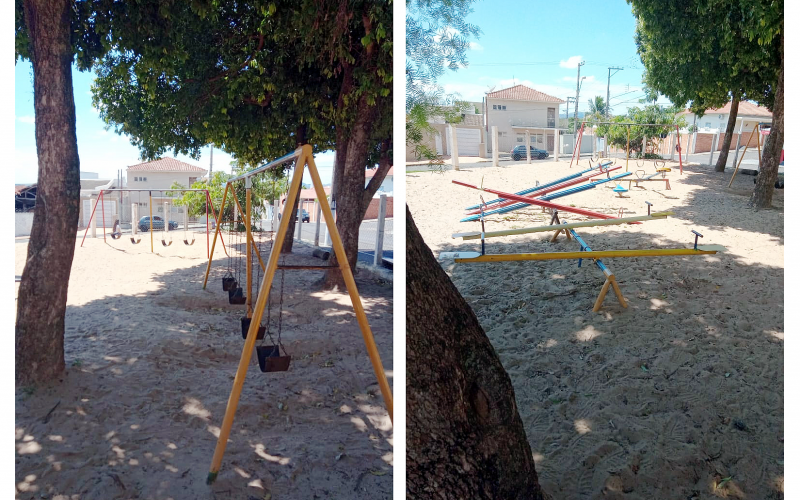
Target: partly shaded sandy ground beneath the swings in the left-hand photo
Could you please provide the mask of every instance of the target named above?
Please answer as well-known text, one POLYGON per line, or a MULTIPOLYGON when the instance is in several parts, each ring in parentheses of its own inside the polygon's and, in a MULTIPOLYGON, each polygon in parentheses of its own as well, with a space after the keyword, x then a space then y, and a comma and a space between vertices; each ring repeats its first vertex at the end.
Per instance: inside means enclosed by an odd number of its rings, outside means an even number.
MULTIPOLYGON (((17 388, 16 498, 391 497, 392 426, 346 292, 320 291, 322 271, 286 273, 291 367, 262 373, 254 355, 207 486, 244 343, 245 306, 229 305, 221 286, 225 255, 218 245, 203 290, 204 237, 156 242, 155 254, 146 238, 108 241, 75 251, 63 381, 17 388)), ((17 274, 26 247, 16 245, 17 274)), ((285 263, 321 262, 295 249, 285 263)), ((391 283, 367 272, 356 281, 392 383, 391 283)))

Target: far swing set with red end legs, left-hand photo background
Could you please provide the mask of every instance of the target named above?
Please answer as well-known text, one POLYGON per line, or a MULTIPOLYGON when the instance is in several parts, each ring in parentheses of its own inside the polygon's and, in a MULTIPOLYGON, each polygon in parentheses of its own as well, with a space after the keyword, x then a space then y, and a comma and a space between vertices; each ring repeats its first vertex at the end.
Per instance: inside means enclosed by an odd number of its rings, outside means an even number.
MULTIPOLYGON (((211 202, 211 197, 208 193, 207 189, 120 189, 120 188, 109 188, 109 189, 102 189, 98 194, 97 199, 94 202, 94 207, 92 208, 92 213, 89 217, 89 223, 86 226, 86 230, 83 233, 83 239, 81 240, 81 246, 83 246, 84 242, 86 241, 86 236, 89 232, 89 229, 93 227, 94 224, 97 223, 95 216, 97 212, 98 205, 100 207, 105 207, 105 196, 106 194, 114 195, 115 193, 119 193, 122 195, 123 193, 128 193, 128 198, 130 200, 133 199, 133 195, 136 195, 136 202, 131 203, 131 232, 127 233, 130 241, 134 245, 138 245, 142 241, 142 237, 140 235, 141 232, 150 233, 150 252, 155 252, 155 239, 157 238, 156 233, 159 233, 158 239, 161 241, 161 245, 164 247, 168 247, 172 245, 173 239, 170 233, 177 230, 170 227, 170 220, 169 220, 169 213, 170 213, 170 202, 164 201, 163 202, 163 213, 164 218, 160 221, 159 224, 154 225, 153 221, 155 218, 153 217, 153 193, 159 193, 159 198, 164 199, 163 193, 186 193, 186 192, 201 192, 204 193, 205 196, 205 203, 206 203, 206 222, 205 222, 205 233, 206 233, 206 255, 207 257, 211 257, 211 250, 210 250, 210 232, 208 227, 208 219, 209 216, 212 217, 215 221, 217 220, 217 216, 214 213, 214 205, 211 202), (149 208, 149 217, 148 217, 148 224, 145 226, 139 225, 139 207, 142 206, 142 197, 144 194, 147 193, 147 206, 149 208), (163 226, 163 227, 159 227, 163 226)), ((195 232, 191 231, 191 239, 189 237, 189 206, 184 207, 183 210, 183 243, 186 246, 192 246, 195 243, 195 232)), ((103 241, 106 241, 106 221, 105 221, 105 210, 101 208, 100 210, 100 217, 102 219, 102 226, 103 226, 103 241)), ((119 219, 114 221, 114 227, 112 232, 108 234, 111 239, 118 240, 125 236, 125 233, 122 231, 122 227, 120 224, 119 219)), ((227 249, 225 248, 225 242, 220 238, 222 242, 223 251, 227 254, 227 249)))

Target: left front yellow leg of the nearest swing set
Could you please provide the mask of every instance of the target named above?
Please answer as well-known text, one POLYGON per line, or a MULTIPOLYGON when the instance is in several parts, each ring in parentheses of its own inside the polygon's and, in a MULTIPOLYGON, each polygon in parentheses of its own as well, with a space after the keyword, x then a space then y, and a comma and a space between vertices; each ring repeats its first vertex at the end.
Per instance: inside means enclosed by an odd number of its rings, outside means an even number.
MULTIPOLYGON (((311 149, 311 146, 306 146, 311 149)), ((294 177, 289 188, 286 203, 288 206, 294 204, 294 200, 300 195, 300 184, 303 180, 303 166, 308 157, 307 150, 304 149, 303 153, 297 159, 294 177)), ((234 196, 234 198, 236 198, 234 196)), ((269 254, 267 261, 267 269, 264 273, 264 280, 261 282, 261 289, 258 292, 258 298, 253 309, 253 317, 250 320, 250 329, 247 330, 247 339, 244 341, 242 348, 242 356, 239 358, 239 367, 236 369, 236 377, 233 379, 233 388, 228 398, 228 406, 225 409, 225 417, 222 419, 220 426, 219 438, 217 439, 217 446, 214 449, 214 457, 211 459, 211 467, 208 471, 206 483, 211 484, 216 480, 217 473, 219 473, 220 466, 222 465, 222 457, 225 455, 225 447, 228 444, 228 436, 233 427, 233 417, 236 414, 236 407, 239 405, 239 398, 242 395, 242 387, 244 386, 244 379, 247 376, 247 368, 250 364, 250 358, 253 355, 253 349, 256 344, 256 337, 258 336, 258 328, 261 325, 261 318, 264 315, 264 308, 267 305, 267 297, 269 297, 270 288, 272 287, 272 280, 275 278, 275 272, 278 269, 278 258, 280 257, 280 250, 274 251, 276 246, 280 249, 283 240, 286 239, 286 233, 289 230, 289 219, 291 217, 283 217, 280 225, 278 226, 278 234, 275 236, 273 242, 273 251, 269 254)))

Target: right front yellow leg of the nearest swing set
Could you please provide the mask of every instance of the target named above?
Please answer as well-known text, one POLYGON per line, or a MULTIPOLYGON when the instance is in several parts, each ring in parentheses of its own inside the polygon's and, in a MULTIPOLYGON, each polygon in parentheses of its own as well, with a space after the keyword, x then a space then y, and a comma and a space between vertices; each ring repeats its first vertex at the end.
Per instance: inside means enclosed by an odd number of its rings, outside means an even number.
MULTIPOLYGON (((309 152, 311 146, 303 146, 308 148, 309 152)), ((356 288, 356 281, 353 278, 353 271, 350 269, 350 263, 347 261, 347 255, 344 252, 344 245, 342 238, 339 236, 339 231, 336 229, 336 223, 333 221, 333 213, 328 204, 328 198, 325 196, 325 188, 322 186, 322 180, 319 178, 317 166, 314 163, 314 157, 308 155, 308 173, 311 175, 311 181, 314 184, 314 189, 317 192, 322 213, 325 216, 325 225, 328 226, 328 233, 331 236, 331 243, 333 250, 336 252, 336 260, 339 263, 339 269, 342 271, 347 292, 350 294, 350 300, 353 303, 353 309, 358 319, 358 326, 361 328, 361 335, 364 337, 364 344, 367 347, 369 359, 372 362, 372 369, 375 372, 375 377, 378 379, 378 386, 383 395, 383 402, 386 404, 386 410, 389 412, 389 419, 394 423, 393 417, 393 398, 392 390, 389 387, 389 381, 386 379, 386 373, 383 370, 380 354, 378 354, 378 347, 375 345, 375 338, 372 335, 372 330, 367 321, 367 315, 364 312, 364 306, 361 304, 361 297, 358 295, 356 288)))

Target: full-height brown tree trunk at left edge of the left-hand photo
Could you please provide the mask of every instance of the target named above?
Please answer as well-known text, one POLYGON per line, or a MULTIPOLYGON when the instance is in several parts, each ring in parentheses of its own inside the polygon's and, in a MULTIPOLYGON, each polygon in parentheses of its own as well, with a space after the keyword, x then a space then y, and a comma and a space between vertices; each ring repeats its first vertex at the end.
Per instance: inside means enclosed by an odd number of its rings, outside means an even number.
POLYGON ((32 47, 39 177, 28 258, 18 295, 18 384, 46 383, 64 371, 64 316, 80 199, 71 5, 68 0, 24 3, 32 47))

